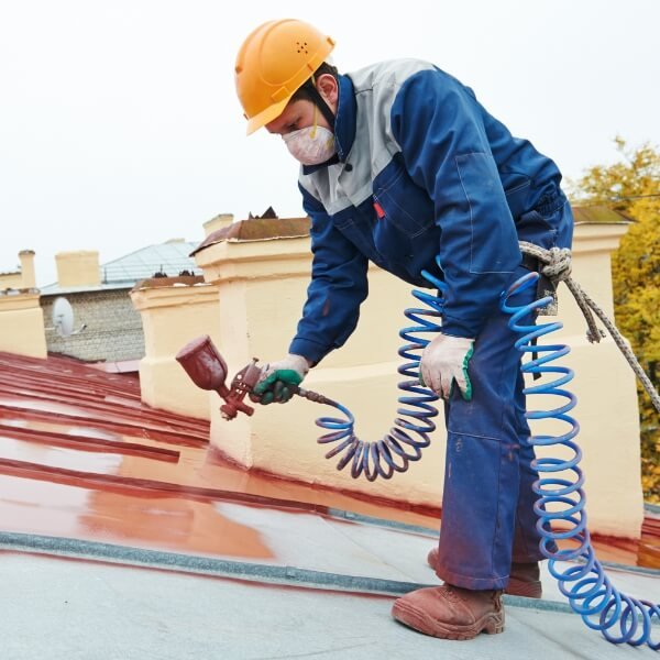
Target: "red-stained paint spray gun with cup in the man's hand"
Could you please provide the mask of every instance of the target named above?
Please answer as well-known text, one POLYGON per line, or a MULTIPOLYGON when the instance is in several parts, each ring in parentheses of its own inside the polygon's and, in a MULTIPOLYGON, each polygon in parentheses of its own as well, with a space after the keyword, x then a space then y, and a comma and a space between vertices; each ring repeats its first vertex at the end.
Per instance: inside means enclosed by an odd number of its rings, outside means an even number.
MULTIPOLYGON (((254 408, 243 399, 248 396, 250 400, 258 403, 261 398, 260 395, 253 392, 264 371, 263 367, 257 365, 256 358, 253 358, 250 364, 235 374, 229 387, 226 385, 229 371, 227 362, 224 362, 208 334, 198 337, 187 343, 176 354, 176 360, 197 387, 217 392, 224 400, 224 404, 220 406, 223 419, 234 419, 239 413, 244 413, 248 416, 254 413, 254 408)), ((304 389, 297 385, 289 385, 288 387, 294 394, 310 402, 331 406, 337 405, 322 394, 304 389)))

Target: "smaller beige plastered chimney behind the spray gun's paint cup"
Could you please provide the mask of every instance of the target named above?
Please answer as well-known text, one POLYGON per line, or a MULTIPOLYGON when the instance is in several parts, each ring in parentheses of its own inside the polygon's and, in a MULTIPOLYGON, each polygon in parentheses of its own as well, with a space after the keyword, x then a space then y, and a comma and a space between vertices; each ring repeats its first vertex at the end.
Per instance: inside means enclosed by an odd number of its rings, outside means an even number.
POLYGON ((145 355, 140 361, 142 400, 154 408, 209 419, 209 393, 193 384, 175 355, 201 334, 217 341, 217 287, 204 282, 162 286, 158 279, 144 280, 131 292, 131 300, 144 329, 145 355))

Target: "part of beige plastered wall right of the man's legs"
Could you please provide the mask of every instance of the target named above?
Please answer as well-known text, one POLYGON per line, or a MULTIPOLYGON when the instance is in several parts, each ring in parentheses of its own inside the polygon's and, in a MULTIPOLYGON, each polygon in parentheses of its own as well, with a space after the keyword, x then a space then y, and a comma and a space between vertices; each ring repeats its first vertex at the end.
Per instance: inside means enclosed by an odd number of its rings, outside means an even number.
MULTIPOLYGON (((625 223, 575 228, 572 277, 613 320, 610 254, 627 228, 625 223)), ((580 424, 576 441, 583 452, 580 466, 586 479, 588 527, 601 534, 639 538, 644 497, 635 374, 609 336, 600 343, 587 341, 585 320, 574 298, 564 285, 559 290, 560 311, 556 318, 564 328, 546 343, 553 343, 558 337, 571 348, 561 363, 575 373, 569 388, 578 396, 578 406, 571 415, 580 424)), ((540 322, 552 320, 542 317, 540 322)), ((604 328, 600 322, 598 326, 604 328)), ((530 396, 528 410, 557 407, 557 400, 558 397, 530 396)), ((532 425, 534 432, 539 433, 558 435, 566 428, 561 422, 532 425)), ((552 451, 539 450, 538 454, 552 455, 552 451)), ((562 459, 572 457, 569 450, 554 454, 562 459)))

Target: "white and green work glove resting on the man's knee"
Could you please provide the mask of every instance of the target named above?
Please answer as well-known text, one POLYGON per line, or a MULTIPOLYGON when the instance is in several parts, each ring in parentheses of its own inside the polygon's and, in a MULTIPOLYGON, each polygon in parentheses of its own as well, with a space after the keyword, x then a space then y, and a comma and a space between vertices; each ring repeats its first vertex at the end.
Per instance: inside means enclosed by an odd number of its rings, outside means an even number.
POLYGON ((462 397, 469 402, 472 399, 472 383, 468 374, 468 363, 473 350, 473 339, 439 333, 421 353, 421 384, 447 400, 455 383, 462 397))

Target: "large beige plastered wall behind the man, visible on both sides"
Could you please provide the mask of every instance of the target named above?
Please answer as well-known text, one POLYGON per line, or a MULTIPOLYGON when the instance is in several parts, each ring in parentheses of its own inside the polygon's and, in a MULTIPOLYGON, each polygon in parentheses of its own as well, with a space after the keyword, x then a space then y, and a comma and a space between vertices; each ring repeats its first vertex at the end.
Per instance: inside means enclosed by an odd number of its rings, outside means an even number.
MULTIPOLYGON (((610 318, 610 253, 626 229, 626 224, 575 228, 574 278, 610 318)), ((230 374, 253 356, 261 361, 284 356, 309 284, 309 239, 220 242, 200 251, 196 260, 205 278, 218 287, 217 345, 230 374)), ((397 383, 402 380, 397 373, 402 362, 398 331, 410 324, 404 310, 419 306, 410 290, 409 285, 371 267, 370 296, 362 306, 356 331, 305 381, 306 387, 341 402, 354 414, 355 430, 363 440, 382 438, 397 416, 397 383)), ((634 374, 612 339, 598 344, 586 341, 585 322, 564 285, 560 286, 560 316, 543 317, 541 322, 557 318, 564 328, 551 341, 571 346, 561 363, 575 371, 570 387, 579 399, 574 416, 581 426, 578 441, 583 451, 590 529, 637 538, 644 503, 634 374)), ((550 398, 557 397, 530 397, 528 408, 557 407, 550 398)), ((369 483, 353 480, 348 469, 339 472, 337 459, 323 458, 328 446, 319 446, 317 438, 326 431, 315 419, 332 415, 332 408, 295 398, 286 405, 257 406, 253 417, 239 416, 228 422, 220 418, 219 404, 218 397, 211 398, 211 443, 246 468, 414 504, 441 504, 446 450, 442 415, 436 418, 437 430, 421 461, 391 481, 369 483)), ((565 431, 563 424, 532 422, 535 433, 565 431)), ((557 449, 539 451, 539 455, 544 454, 571 455, 557 449)))

